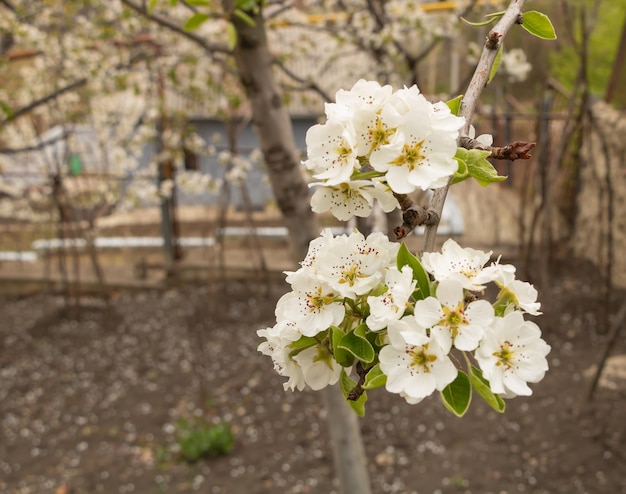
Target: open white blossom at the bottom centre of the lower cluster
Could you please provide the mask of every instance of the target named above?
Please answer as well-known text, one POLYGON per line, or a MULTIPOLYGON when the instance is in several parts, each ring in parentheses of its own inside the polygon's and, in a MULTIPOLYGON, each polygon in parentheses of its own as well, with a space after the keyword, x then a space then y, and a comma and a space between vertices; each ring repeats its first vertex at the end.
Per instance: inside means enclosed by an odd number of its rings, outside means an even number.
POLYGON ((390 344, 379 353, 387 391, 416 404, 456 378, 458 371, 450 357, 412 316, 392 321, 388 337, 390 344))

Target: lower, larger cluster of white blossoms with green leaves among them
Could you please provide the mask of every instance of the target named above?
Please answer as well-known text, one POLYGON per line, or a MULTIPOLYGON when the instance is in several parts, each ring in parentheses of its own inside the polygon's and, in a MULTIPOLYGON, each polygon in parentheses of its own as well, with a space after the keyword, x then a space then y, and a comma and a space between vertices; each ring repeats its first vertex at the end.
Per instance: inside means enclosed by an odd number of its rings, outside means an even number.
POLYGON ((420 260, 381 233, 325 230, 286 273, 291 291, 277 304, 276 324, 258 331, 259 351, 291 390, 319 390, 354 370, 378 374, 379 386, 418 403, 457 378, 459 352, 494 395, 530 395, 550 351, 525 317, 540 314, 537 291, 514 266, 490 259, 452 239, 420 260), (498 288, 493 301, 488 284, 498 288))

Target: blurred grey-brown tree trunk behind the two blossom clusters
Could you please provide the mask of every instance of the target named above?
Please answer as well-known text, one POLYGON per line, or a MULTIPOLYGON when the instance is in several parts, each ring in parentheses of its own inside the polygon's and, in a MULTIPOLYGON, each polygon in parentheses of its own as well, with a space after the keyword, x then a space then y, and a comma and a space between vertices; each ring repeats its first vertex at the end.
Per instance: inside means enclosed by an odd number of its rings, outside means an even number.
MULTIPOLYGON (((234 2, 223 0, 226 12, 234 2)), ((254 25, 232 16, 237 31, 234 56, 252 107, 252 123, 265 157, 274 197, 289 231, 295 262, 304 259, 309 242, 319 233, 309 205, 309 188, 300 166, 291 118, 272 72, 261 12, 248 12, 254 25)), ((343 403, 337 386, 326 388, 329 430, 337 476, 344 494, 371 493, 358 417, 343 403)))

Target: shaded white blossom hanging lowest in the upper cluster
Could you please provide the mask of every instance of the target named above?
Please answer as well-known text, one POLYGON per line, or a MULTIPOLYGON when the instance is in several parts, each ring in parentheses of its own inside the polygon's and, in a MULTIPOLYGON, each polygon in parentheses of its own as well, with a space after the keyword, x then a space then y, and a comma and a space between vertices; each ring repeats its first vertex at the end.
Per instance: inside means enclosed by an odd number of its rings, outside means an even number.
MULTIPOLYGON (((321 185, 320 183, 311 184, 321 185)), ((380 181, 353 180, 333 186, 319 187, 311 197, 311 209, 315 213, 329 211, 340 221, 353 216, 361 218, 371 214, 374 200, 388 213, 398 207, 398 201, 380 181)))

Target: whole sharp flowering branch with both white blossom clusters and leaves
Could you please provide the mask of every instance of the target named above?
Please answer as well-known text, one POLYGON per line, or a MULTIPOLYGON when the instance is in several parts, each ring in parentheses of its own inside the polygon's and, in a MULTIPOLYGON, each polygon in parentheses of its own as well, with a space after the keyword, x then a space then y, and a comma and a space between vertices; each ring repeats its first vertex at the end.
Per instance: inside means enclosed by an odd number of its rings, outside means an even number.
POLYGON ((439 391, 461 416, 472 391, 502 412, 505 398, 530 395, 529 383, 544 377, 550 347, 528 318, 540 314, 534 287, 516 278, 514 266, 491 261, 492 252, 451 239, 433 252, 448 187, 504 180, 487 158, 526 158, 533 147, 492 148, 470 127, 508 30, 520 24, 554 37, 548 18, 522 12, 522 4, 489 16, 497 24, 464 96, 433 104, 415 85, 394 91, 359 80, 338 91, 326 121, 309 129, 304 164, 317 180, 314 211, 345 220, 368 216, 378 202, 403 211, 398 239, 420 224, 427 232, 421 255, 381 233, 326 230, 311 242, 301 267, 287 273, 291 291, 278 301, 276 324, 258 332, 259 350, 287 379, 285 389, 339 383, 360 415, 368 389, 384 386, 410 404, 439 391), (410 199, 418 189, 434 190, 429 207, 410 199))

